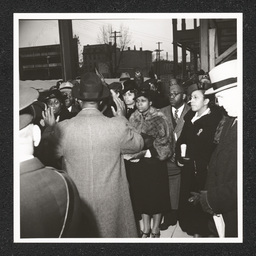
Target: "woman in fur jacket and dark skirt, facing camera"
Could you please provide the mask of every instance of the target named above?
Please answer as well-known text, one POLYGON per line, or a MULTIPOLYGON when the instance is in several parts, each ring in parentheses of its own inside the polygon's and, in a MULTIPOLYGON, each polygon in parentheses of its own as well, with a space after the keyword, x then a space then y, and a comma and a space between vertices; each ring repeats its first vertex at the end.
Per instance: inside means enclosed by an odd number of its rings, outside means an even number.
POLYGON ((162 213, 170 209, 166 159, 171 155, 169 127, 166 117, 151 106, 150 91, 139 92, 137 110, 131 115, 131 125, 147 137, 148 150, 130 156, 130 193, 135 216, 141 215, 142 237, 160 237, 162 213))

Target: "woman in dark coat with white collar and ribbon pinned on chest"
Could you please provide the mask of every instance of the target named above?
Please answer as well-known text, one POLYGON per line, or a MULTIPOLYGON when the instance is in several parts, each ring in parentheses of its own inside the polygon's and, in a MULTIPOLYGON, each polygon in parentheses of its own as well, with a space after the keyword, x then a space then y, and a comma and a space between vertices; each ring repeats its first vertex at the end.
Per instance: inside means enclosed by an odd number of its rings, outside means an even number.
POLYGON ((198 84, 188 88, 191 110, 184 117, 185 124, 176 144, 176 160, 182 168, 179 225, 183 231, 194 236, 209 235, 208 215, 189 198, 193 192, 205 187, 207 166, 215 147, 214 134, 222 118, 219 107, 213 105, 213 99, 204 95, 203 89, 198 84), (182 144, 186 144, 185 157, 181 157, 182 144))

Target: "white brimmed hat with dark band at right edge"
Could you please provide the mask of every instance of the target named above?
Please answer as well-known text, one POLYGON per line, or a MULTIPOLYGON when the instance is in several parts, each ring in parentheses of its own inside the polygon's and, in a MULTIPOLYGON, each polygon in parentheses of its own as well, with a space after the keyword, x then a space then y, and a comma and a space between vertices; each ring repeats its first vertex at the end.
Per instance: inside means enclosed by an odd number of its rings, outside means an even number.
POLYGON ((237 60, 230 60, 214 67, 209 72, 211 86, 205 94, 217 93, 237 86, 237 60))

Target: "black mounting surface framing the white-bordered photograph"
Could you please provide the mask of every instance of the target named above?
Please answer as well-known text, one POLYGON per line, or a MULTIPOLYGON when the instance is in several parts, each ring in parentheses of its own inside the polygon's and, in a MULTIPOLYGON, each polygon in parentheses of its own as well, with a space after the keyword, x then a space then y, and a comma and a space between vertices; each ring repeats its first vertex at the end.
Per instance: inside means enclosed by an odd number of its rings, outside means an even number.
MULTIPOLYGON (((1 6, 0 65, 1 65, 1 255, 253 255, 255 254, 255 52, 256 2, 202 0, 86 0, 86 1, 5 1, 1 6), (13 13, 243 13, 243 238, 242 244, 15 244, 13 243, 13 13)), ((186 15, 184 15, 184 18, 186 15)), ((67 19, 68 19, 67 15, 67 19)), ((18 35, 16 35, 18 36, 18 35)), ((15 85, 18 86, 18 85, 15 85)), ((170 238, 171 239, 171 238, 170 238)))

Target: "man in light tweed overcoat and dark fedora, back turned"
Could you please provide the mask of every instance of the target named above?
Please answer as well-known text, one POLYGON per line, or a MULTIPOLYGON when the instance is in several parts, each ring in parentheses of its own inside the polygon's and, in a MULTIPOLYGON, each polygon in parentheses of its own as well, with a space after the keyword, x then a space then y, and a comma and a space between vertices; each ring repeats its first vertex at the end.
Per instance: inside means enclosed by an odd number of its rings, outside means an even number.
MULTIPOLYGON (((137 237, 122 154, 140 152, 143 138, 125 117, 108 118, 98 110, 110 92, 96 74, 84 74, 72 92, 82 110, 54 125, 53 137, 56 157, 78 188, 91 237, 137 237)), ((120 99, 114 101, 115 114, 125 110, 120 99)))

